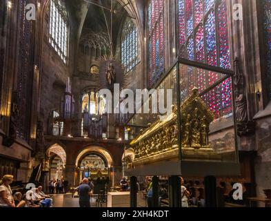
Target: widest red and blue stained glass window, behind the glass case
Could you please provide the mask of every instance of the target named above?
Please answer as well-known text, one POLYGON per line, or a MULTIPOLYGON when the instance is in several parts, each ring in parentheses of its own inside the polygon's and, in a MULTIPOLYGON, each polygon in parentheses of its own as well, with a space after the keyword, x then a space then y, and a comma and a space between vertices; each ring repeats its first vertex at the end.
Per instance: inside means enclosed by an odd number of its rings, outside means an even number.
MULTIPOLYGON (((177 0, 177 6, 179 46, 184 49, 184 56, 211 66, 231 68, 227 0, 177 0)), ((208 75, 203 75, 200 71, 188 72, 190 90, 192 85, 196 84, 201 92, 203 88, 212 86, 219 80, 217 73, 209 72, 208 75)), ((232 113, 231 93, 232 82, 227 80, 205 96, 216 118, 232 113), (221 102, 214 100, 217 96, 221 102)))

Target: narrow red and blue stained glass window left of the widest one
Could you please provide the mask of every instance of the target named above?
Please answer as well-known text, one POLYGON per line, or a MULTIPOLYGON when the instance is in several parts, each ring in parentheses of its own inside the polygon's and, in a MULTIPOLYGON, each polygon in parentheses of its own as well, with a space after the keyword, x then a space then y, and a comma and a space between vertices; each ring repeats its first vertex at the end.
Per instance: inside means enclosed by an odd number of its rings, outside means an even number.
POLYGON ((148 6, 148 78, 152 87, 165 68, 164 0, 150 0, 148 6))

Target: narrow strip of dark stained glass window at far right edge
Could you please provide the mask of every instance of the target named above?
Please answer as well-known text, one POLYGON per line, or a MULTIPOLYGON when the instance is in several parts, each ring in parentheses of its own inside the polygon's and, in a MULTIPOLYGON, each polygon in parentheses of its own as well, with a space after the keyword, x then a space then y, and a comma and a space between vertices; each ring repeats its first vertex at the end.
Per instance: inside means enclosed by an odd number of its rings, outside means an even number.
POLYGON ((271 0, 263 0, 263 27, 264 27, 264 42, 266 45, 266 61, 267 61, 267 76, 269 98, 271 99, 271 0))

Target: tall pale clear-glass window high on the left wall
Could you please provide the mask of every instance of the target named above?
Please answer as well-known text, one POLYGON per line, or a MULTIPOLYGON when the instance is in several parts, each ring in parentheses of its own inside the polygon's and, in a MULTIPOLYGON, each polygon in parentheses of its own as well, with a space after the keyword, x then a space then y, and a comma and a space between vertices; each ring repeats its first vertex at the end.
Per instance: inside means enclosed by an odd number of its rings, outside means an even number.
POLYGON ((63 0, 50 2, 50 44, 59 57, 68 60, 68 13, 63 0))

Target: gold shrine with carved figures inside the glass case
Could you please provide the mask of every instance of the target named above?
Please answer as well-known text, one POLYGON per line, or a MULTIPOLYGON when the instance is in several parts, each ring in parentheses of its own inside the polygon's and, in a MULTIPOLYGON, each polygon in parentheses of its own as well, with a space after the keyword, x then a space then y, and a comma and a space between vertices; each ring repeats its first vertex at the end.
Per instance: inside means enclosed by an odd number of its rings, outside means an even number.
MULTIPOLYGON (((208 133, 213 119, 213 113, 199 97, 199 90, 194 88, 192 95, 181 105, 182 148, 210 148, 208 133)), ((163 121, 157 120, 143 131, 130 145, 134 148, 134 161, 178 148, 177 108, 174 107, 163 121)))

